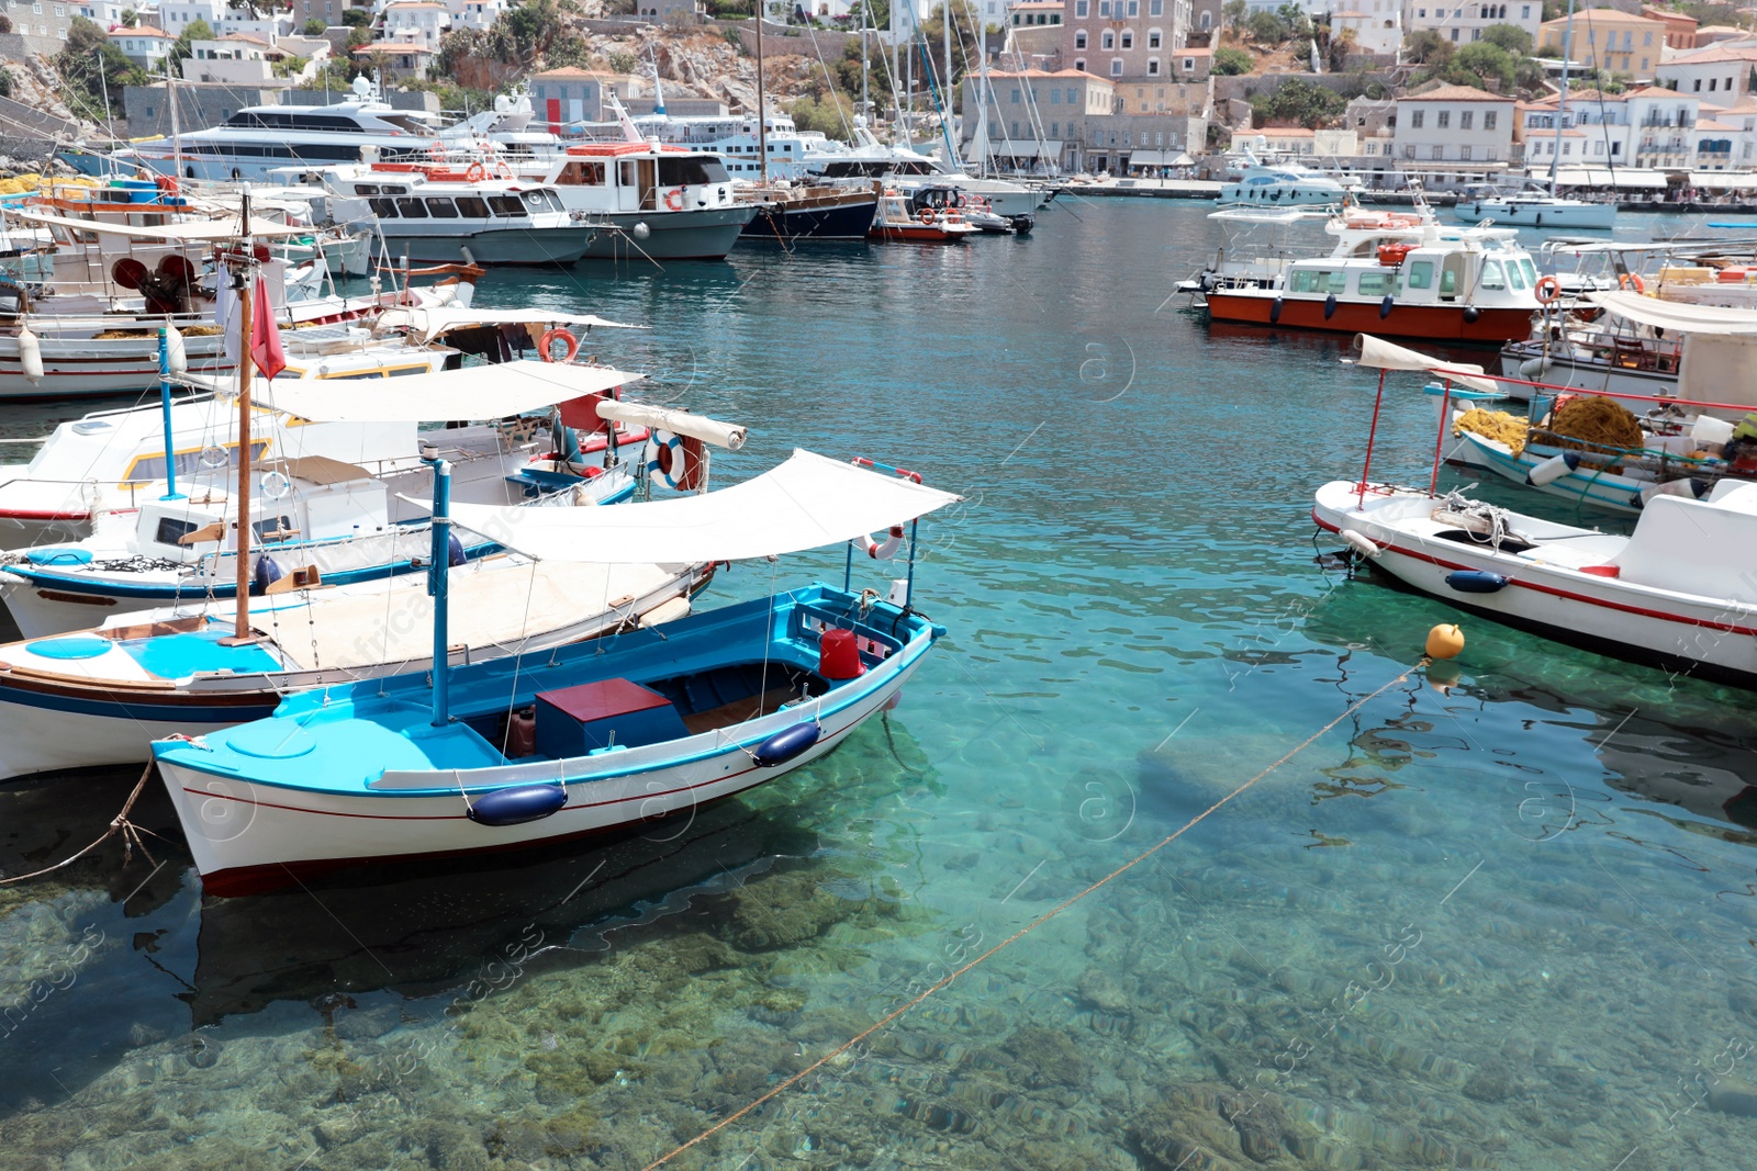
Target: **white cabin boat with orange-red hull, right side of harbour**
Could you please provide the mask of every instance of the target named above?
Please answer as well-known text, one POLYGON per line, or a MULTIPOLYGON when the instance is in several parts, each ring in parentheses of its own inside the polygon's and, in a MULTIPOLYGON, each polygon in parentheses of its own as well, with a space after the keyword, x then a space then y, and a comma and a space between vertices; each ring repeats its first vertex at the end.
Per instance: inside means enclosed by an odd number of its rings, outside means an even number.
MULTIPOLYGON (((1186 283, 1214 321, 1284 328, 1508 342, 1530 335, 1537 265, 1511 228, 1455 228, 1413 211, 1356 205, 1316 212, 1335 239, 1327 256, 1226 260, 1186 283)), ((1230 225, 1291 225, 1314 212, 1219 211, 1230 225)))

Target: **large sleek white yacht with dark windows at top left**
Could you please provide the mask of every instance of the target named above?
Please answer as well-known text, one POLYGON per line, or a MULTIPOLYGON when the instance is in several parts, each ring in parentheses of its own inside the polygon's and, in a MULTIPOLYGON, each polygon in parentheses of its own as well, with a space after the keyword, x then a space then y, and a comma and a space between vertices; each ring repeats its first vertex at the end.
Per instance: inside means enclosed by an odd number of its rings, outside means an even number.
POLYGON ((183 179, 265 181, 278 167, 334 167, 372 158, 487 149, 469 130, 441 133, 434 116, 385 104, 365 77, 334 105, 246 105, 225 123, 137 142, 119 156, 183 179))

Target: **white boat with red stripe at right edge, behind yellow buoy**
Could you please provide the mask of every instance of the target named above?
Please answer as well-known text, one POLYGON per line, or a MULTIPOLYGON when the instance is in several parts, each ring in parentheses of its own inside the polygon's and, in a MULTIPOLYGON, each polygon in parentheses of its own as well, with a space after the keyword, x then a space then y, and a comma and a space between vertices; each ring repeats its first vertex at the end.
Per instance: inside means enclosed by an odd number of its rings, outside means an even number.
POLYGON ((1462 609, 1669 671, 1757 686, 1757 485, 1660 495, 1634 534, 1558 525, 1414 488, 1332 481, 1312 520, 1462 609))

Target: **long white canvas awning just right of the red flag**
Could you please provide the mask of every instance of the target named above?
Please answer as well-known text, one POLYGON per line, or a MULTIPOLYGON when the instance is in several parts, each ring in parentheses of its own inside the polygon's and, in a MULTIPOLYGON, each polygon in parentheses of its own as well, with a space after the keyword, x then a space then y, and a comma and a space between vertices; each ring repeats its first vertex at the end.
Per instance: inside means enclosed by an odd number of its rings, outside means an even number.
MULTIPOLYGON (((274 383, 258 379, 251 390, 251 402, 297 414, 311 423, 497 420, 603 393, 640 377, 606 365, 525 358, 466 370, 372 379, 371 388, 344 377, 285 377, 274 383)), ((218 381, 223 384, 223 379, 218 381)))

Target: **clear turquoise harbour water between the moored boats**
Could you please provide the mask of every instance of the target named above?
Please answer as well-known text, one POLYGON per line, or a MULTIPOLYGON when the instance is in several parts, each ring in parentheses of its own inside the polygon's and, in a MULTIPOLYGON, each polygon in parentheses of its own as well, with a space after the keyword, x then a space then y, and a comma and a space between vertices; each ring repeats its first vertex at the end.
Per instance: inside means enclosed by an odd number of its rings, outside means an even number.
MULTIPOLYGON (((650 327, 585 349, 750 423, 722 483, 805 446, 965 493, 951 637, 833 757, 596 848, 204 906, 149 790, 153 860, 0 888, 0 1166, 643 1167, 1311 737, 668 1166, 1748 1166, 1757 704, 1476 618, 1406 678, 1457 614, 1309 520, 1374 384, 1160 307, 1205 211, 490 277, 650 327)), ((1376 467, 1425 476, 1390 386, 1376 467)), ((135 776, 0 788, 0 866, 135 776)))

